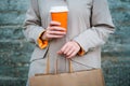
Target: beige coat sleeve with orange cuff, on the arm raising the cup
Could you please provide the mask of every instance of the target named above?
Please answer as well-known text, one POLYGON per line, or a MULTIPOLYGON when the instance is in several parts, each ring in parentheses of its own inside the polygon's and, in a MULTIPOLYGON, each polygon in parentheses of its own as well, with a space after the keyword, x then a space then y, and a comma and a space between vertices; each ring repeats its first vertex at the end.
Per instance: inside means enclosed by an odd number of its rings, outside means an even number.
POLYGON ((47 44, 48 42, 41 41, 39 37, 44 30, 46 29, 41 27, 38 1, 30 0, 30 6, 26 12, 26 19, 24 23, 24 34, 29 42, 32 42, 40 47, 43 47, 44 45, 42 45, 41 43, 47 44))

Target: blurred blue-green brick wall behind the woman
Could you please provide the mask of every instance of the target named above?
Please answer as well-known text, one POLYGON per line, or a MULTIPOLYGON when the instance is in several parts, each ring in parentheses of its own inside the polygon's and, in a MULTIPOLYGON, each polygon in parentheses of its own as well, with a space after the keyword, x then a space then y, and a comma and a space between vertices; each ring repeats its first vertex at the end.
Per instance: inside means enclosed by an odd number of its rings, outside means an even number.
MULTIPOLYGON (((0 0, 0 86, 25 86, 34 45, 22 32, 29 0, 0 0)), ((130 0, 108 0, 116 32, 103 46, 107 86, 130 86, 130 0)))

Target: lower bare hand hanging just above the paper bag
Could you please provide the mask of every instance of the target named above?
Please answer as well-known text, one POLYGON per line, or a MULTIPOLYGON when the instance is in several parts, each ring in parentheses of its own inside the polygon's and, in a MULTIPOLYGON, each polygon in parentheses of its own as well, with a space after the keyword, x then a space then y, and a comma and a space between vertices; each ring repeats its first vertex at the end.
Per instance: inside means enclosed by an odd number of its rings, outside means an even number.
POLYGON ((77 53, 80 51, 80 46, 77 42, 70 41, 67 42, 58 52, 60 55, 65 55, 66 58, 72 58, 77 55, 77 53))

